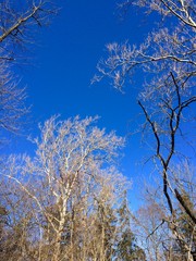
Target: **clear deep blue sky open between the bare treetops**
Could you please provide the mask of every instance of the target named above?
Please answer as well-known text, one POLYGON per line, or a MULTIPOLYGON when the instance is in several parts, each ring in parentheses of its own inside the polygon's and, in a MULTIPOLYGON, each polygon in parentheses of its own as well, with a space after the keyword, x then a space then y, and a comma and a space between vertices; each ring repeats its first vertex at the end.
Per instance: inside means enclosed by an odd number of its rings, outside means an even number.
MULTIPOLYGON (((106 54, 106 44, 127 39, 140 44, 149 29, 148 18, 130 12, 122 21, 112 0, 66 0, 58 5, 61 8, 58 16, 48 28, 37 33, 36 45, 28 47, 29 65, 20 69, 22 84, 27 86, 28 104, 33 104, 32 135, 38 135, 38 122, 53 114, 61 114, 64 120, 79 114, 99 115, 100 127, 127 136, 139 122, 136 95, 143 75, 137 75, 135 85, 125 95, 107 80, 90 86, 90 79, 98 60, 106 54)), ((24 139, 17 139, 13 148, 15 152, 32 150, 24 139)), ((122 171, 133 179, 134 194, 142 171, 136 164, 144 157, 139 135, 127 137, 124 153, 122 171)))

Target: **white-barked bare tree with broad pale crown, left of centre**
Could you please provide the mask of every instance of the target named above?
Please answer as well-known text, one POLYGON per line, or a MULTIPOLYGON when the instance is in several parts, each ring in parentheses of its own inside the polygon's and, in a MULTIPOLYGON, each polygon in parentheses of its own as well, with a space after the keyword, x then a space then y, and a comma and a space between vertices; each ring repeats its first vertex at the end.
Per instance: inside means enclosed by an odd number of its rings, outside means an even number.
POLYGON ((119 254, 120 209, 130 187, 115 166, 124 139, 95 121, 51 117, 35 139, 35 158, 11 157, 7 164, 3 176, 25 195, 32 214, 26 260, 107 261, 119 254))

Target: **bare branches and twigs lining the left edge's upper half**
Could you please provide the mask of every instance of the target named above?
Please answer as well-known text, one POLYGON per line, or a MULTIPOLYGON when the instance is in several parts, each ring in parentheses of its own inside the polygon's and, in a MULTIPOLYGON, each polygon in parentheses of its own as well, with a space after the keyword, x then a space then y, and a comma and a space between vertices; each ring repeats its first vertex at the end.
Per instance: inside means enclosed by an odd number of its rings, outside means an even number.
MULTIPOLYGON (((26 59, 25 47, 35 44, 37 26, 48 24, 54 13, 51 2, 10 1, 0 3, 0 132, 17 133, 28 112, 25 90, 14 73, 15 64, 26 59)), ((3 135, 2 135, 3 136, 3 135)))

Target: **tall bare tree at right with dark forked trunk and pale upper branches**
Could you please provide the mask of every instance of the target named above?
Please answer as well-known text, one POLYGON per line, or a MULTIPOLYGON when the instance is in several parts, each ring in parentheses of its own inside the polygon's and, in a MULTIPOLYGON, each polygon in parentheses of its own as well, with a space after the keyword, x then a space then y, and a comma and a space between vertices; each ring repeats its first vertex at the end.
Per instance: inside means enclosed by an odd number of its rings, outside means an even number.
MULTIPOLYGON (((196 101, 196 7, 194 1, 183 0, 136 0, 121 5, 136 5, 148 13, 157 12, 161 23, 138 47, 127 42, 107 45, 109 57, 98 63, 99 74, 94 80, 107 76, 115 88, 123 91, 123 87, 131 84, 136 70, 145 73, 146 83, 138 96, 138 104, 145 116, 143 129, 151 134, 148 136, 150 145, 155 140, 151 159, 161 176, 162 192, 169 210, 167 222, 173 235, 182 243, 184 239, 180 238, 182 235, 176 229, 176 201, 193 222, 192 227, 196 225, 195 211, 184 200, 183 191, 179 189, 180 181, 174 175, 176 165, 186 158, 182 156, 184 151, 180 151, 180 144, 186 146, 185 122, 188 122, 189 129, 194 125, 194 113, 191 115, 189 107, 196 101)), ((186 139, 192 142, 192 134, 186 139)), ((193 198, 191 201, 194 202, 193 198)), ((195 250, 192 251, 188 244, 184 248, 187 260, 195 260, 195 250)))

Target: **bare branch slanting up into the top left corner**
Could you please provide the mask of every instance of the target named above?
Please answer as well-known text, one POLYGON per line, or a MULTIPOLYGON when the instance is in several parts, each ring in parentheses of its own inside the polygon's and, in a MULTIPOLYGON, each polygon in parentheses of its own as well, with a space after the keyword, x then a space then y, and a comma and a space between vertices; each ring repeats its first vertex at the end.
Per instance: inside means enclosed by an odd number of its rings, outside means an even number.
POLYGON ((50 14, 57 11, 51 1, 45 0, 4 0, 0 3, 0 50, 1 60, 5 61, 14 60, 14 50, 19 50, 19 46, 29 45, 34 39, 35 26, 49 24, 50 14))

